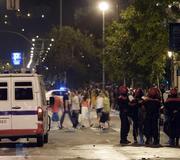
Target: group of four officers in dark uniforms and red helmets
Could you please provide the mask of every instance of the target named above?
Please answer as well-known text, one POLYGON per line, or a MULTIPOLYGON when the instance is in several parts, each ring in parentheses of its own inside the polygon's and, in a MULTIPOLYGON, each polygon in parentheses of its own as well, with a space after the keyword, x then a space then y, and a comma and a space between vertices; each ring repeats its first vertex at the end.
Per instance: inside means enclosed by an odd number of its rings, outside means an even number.
POLYGON ((130 100, 127 87, 119 87, 120 144, 131 143, 127 139, 131 119, 134 143, 159 145, 159 120, 162 113, 165 117, 163 130, 169 137, 169 144, 179 145, 180 98, 178 98, 175 88, 170 90, 170 95, 165 102, 161 100, 160 93, 158 88, 152 87, 145 96, 143 90, 138 88, 133 93, 133 99, 130 100), (139 137, 139 141, 137 137, 139 137))

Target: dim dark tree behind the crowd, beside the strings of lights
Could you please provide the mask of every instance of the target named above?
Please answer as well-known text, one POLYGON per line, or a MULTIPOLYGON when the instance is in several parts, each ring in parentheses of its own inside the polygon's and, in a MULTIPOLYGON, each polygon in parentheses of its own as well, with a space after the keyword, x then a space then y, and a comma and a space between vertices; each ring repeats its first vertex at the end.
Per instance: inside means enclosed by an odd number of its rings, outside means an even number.
POLYGON ((46 61, 49 77, 63 81, 66 75, 71 87, 98 80, 101 68, 93 37, 72 27, 54 27, 50 37, 54 37, 55 44, 46 61))

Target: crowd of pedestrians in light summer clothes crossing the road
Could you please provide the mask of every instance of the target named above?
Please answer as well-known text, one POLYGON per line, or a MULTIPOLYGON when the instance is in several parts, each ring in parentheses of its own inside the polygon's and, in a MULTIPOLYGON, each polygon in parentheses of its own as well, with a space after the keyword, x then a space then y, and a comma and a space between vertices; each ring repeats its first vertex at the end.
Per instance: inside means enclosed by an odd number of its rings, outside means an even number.
POLYGON ((52 121, 58 128, 63 128, 65 116, 75 129, 98 127, 109 128, 110 98, 108 91, 100 89, 93 90, 71 90, 62 97, 53 95, 52 121), (93 123, 91 111, 96 110, 97 123, 93 123), (107 125, 106 125, 107 123, 107 125), (107 126, 107 127, 106 127, 107 126))

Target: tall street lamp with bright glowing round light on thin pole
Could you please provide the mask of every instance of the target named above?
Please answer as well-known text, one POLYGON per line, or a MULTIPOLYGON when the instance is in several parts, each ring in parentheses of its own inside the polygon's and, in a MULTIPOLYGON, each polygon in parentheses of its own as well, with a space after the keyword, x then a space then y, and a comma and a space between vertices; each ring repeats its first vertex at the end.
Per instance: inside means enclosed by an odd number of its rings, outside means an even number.
POLYGON ((104 62, 104 52, 105 52, 105 12, 109 9, 109 4, 106 1, 99 3, 99 9, 102 11, 102 88, 105 88, 105 62, 104 62))

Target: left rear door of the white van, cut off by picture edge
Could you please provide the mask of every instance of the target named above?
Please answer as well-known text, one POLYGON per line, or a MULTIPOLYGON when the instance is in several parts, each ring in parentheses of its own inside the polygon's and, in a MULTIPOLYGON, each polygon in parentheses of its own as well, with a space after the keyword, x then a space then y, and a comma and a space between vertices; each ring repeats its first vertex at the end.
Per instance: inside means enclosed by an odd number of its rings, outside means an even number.
POLYGON ((0 133, 11 130, 11 83, 10 78, 0 79, 0 133))

